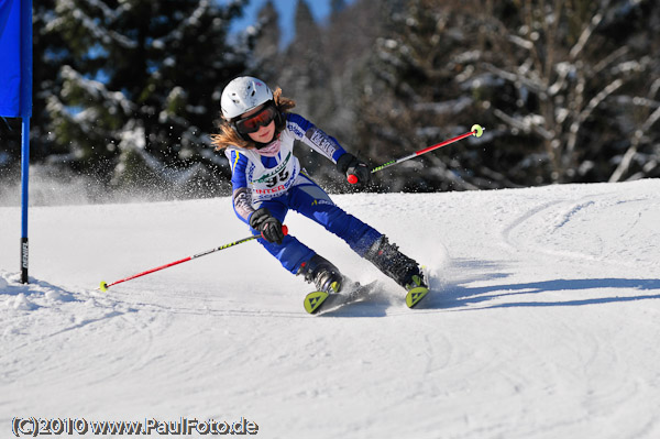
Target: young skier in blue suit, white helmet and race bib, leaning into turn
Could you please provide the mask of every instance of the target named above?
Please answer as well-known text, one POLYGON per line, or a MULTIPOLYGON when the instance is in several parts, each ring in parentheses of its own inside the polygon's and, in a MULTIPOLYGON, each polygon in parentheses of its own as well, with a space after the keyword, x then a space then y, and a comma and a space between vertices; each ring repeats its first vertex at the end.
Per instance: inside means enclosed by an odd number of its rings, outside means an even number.
POLYGON ((306 175, 293 153, 294 141, 324 155, 341 174, 354 176, 353 180, 356 177, 362 186, 371 177, 365 163, 301 116, 288 112, 295 102, 257 78, 233 79, 222 91, 220 105, 222 122, 212 143, 217 150, 226 150, 231 165, 234 211, 253 233, 261 233, 258 241, 286 270, 329 294, 339 293, 346 284, 333 264, 283 233, 282 222, 294 209, 344 240, 407 290, 427 287, 417 262, 383 233, 336 206, 306 175))

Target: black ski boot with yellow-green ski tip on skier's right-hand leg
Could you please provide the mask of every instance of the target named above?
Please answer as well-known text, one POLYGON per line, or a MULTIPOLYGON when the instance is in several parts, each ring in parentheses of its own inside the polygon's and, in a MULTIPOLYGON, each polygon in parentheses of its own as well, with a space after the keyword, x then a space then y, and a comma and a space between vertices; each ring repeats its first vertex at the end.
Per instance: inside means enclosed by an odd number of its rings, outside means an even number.
POLYGON ((382 235, 374 242, 364 257, 406 288, 406 305, 409 308, 428 294, 429 286, 417 262, 399 252, 398 246, 391 244, 387 237, 382 235))

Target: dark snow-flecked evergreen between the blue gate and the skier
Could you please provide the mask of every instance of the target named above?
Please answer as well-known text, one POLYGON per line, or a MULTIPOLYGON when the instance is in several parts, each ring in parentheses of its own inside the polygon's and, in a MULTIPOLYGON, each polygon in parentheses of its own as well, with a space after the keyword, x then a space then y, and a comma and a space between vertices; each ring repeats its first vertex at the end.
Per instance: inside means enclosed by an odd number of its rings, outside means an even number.
POLYGON ((198 162, 219 173, 205 147, 222 87, 246 69, 249 37, 229 36, 245 3, 58 0, 47 28, 73 55, 48 100, 62 158, 114 180, 173 180, 198 162))

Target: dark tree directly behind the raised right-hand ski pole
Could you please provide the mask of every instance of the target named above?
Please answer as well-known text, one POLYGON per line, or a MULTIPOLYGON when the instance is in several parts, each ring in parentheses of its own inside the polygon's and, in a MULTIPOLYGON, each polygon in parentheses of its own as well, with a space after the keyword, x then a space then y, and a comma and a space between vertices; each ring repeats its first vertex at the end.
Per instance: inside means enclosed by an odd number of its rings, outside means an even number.
MULTIPOLYGON (((370 157, 382 163, 382 157, 396 158, 485 123, 479 99, 466 90, 470 63, 477 56, 469 43, 474 21, 454 11, 454 3, 392 2, 388 32, 376 42, 358 111, 360 143, 369 146, 370 157)), ((387 190, 503 185, 490 182, 505 178, 484 164, 482 152, 483 146, 464 142, 377 178, 387 190)))

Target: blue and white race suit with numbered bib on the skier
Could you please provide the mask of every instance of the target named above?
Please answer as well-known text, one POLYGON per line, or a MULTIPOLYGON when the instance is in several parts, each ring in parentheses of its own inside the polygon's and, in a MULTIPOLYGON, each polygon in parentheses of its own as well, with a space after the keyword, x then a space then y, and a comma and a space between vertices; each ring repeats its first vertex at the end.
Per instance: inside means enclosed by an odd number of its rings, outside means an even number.
MULTIPOLYGON (((287 211, 294 209, 337 234, 364 256, 382 233, 334 205, 328 194, 302 173, 293 153, 296 140, 333 163, 345 151, 336 139, 305 118, 294 113, 285 113, 285 129, 266 147, 246 150, 229 146, 226 150, 232 171, 232 200, 237 216, 249 224, 252 213, 265 207, 273 217, 284 222, 287 211)), ((284 237, 282 245, 264 239, 258 241, 294 274, 298 273, 300 264, 316 254, 290 234, 284 237)))

